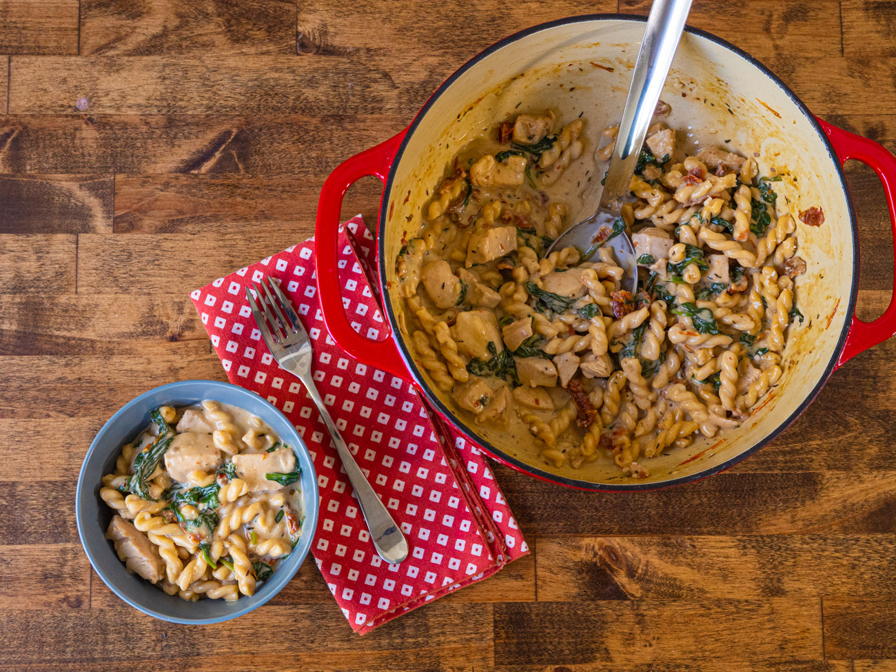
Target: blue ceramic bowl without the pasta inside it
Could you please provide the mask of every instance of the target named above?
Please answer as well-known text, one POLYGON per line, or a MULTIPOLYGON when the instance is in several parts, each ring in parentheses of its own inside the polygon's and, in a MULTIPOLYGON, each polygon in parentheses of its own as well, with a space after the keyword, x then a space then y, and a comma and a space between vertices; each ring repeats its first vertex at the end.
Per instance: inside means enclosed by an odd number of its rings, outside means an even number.
POLYGON ((230 383, 211 380, 189 380, 169 383, 149 392, 143 392, 109 418, 90 444, 84 458, 78 488, 75 494, 75 515, 78 534, 84 552, 90 559, 99 578, 106 582, 115 594, 144 614, 174 623, 219 623, 243 616, 280 592, 305 561, 314 530, 317 528, 319 498, 314 464, 305 442, 296 428, 278 409, 254 392, 230 383), (205 399, 233 404, 262 418, 280 435, 280 439, 295 446, 296 459, 302 468, 301 487, 305 506, 302 537, 292 553, 280 561, 271 578, 252 597, 242 596, 234 602, 223 599, 200 599, 187 602, 177 595, 167 595, 157 586, 144 581, 136 574, 128 573, 125 564, 116 556, 112 542, 105 537, 112 510, 99 498, 100 478, 114 470, 121 446, 150 423, 150 411, 159 406, 185 406, 205 399))

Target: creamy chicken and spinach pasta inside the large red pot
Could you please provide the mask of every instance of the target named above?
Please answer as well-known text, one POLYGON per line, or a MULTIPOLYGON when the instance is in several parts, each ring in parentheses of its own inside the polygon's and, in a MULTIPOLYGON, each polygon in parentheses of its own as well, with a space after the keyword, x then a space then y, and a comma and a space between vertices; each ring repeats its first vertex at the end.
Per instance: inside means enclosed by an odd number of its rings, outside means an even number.
POLYGON ((779 381, 806 263, 782 176, 720 148, 685 151, 661 121, 604 229, 631 236, 634 296, 609 246, 587 261, 547 254, 584 188, 564 185, 567 168, 613 151, 607 128, 586 154, 585 123, 520 114, 455 156, 402 240, 404 322, 418 365, 475 423, 556 469, 612 460, 646 478, 651 457, 737 427, 779 381))

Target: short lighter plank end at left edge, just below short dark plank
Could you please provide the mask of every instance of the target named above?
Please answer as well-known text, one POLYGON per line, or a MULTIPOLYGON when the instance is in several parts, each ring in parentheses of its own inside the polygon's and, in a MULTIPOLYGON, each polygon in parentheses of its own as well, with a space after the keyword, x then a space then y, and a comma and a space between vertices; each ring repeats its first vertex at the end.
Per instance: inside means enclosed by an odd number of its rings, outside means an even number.
POLYGON ((68 234, 0 236, 0 294, 73 292, 76 249, 68 234))

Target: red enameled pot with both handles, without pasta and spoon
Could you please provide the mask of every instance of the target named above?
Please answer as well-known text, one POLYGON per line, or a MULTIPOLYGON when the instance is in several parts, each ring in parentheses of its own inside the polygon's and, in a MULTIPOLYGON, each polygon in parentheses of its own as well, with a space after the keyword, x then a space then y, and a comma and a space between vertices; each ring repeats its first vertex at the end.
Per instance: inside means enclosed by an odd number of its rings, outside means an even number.
MULTIPOLYGON (((880 177, 896 228, 896 159, 876 142, 826 124, 752 56, 702 30, 688 28, 662 99, 672 106, 669 125, 692 129, 704 144, 725 142, 756 151, 761 175, 770 168, 796 181, 798 210, 820 206, 819 228, 797 224, 798 254, 808 270, 796 280, 806 322, 790 329, 780 384, 744 425, 686 449, 645 462, 650 477, 622 478, 612 461, 581 471, 554 470, 537 451, 509 441, 498 430, 471 423, 449 395, 438 392, 409 349, 395 258, 406 233, 419 226, 421 207, 454 153, 495 121, 521 110, 555 108, 561 118, 583 113, 586 156, 600 129, 614 125, 643 34, 640 17, 576 16, 523 30, 463 65, 435 91, 409 127, 346 160, 323 185, 317 211, 315 255, 323 316, 333 339, 355 358, 409 380, 441 416, 495 460, 539 478, 572 487, 638 490, 691 481, 727 469, 759 450, 806 409, 831 372, 896 332, 896 301, 873 323, 854 315, 858 287, 855 212, 841 165, 863 161, 880 177), (375 175, 385 189, 377 226, 376 272, 391 338, 372 341, 355 332, 342 309, 337 277, 340 204, 359 177, 375 175), (325 272, 321 272, 321 271, 325 272)), ((776 188, 784 187, 778 183, 776 188)), ((599 194, 588 190, 582 220, 599 194)))

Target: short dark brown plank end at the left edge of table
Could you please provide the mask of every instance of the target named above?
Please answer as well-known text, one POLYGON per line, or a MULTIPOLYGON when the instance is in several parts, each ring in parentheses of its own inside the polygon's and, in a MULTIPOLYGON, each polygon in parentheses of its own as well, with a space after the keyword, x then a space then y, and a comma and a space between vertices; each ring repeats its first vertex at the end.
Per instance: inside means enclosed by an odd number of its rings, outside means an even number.
POLYGON ((0 176, 0 234, 111 233, 112 176, 0 176))

